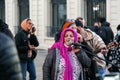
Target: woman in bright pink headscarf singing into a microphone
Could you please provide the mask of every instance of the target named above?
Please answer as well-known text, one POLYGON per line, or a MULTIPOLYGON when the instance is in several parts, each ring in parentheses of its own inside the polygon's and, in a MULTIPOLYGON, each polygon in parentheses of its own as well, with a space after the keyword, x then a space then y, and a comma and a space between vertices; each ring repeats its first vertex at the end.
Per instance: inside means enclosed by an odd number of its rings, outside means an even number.
POLYGON ((43 80, 84 80, 82 67, 90 67, 91 60, 82 48, 75 48, 70 41, 77 43, 78 35, 66 28, 45 59, 43 80))

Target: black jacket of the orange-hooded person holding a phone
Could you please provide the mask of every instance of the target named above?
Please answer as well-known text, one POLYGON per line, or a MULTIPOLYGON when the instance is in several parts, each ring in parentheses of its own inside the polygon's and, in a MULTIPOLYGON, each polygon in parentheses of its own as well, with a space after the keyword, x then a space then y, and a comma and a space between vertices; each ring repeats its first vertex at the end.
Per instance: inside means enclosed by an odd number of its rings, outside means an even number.
MULTIPOLYGON (((25 30, 21 30, 15 35, 15 43, 21 62, 26 62, 28 60, 28 50, 30 50, 28 42, 36 47, 39 45, 35 35, 30 35, 30 37, 28 37, 28 35, 29 32, 26 32, 25 30)), ((35 58, 37 53, 35 51, 32 52, 32 58, 35 58)))

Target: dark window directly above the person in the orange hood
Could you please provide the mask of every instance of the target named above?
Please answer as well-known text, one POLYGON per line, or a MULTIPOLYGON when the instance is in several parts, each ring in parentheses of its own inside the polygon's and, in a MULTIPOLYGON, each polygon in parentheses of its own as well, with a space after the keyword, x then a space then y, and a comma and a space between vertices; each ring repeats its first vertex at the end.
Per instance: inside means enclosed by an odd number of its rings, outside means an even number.
POLYGON ((25 18, 29 18, 29 0, 18 0, 19 24, 25 18))

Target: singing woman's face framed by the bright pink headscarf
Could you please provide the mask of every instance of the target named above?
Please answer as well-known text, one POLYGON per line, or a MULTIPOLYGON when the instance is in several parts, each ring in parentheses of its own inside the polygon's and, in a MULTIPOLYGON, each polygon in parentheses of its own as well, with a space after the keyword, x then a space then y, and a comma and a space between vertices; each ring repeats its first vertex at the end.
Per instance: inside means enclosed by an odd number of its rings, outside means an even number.
POLYGON ((70 46, 70 43, 69 43, 70 40, 71 40, 72 42, 74 42, 73 32, 72 32, 72 31, 66 31, 65 36, 64 36, 64 43, 65 43, 67 46, 70 46))

